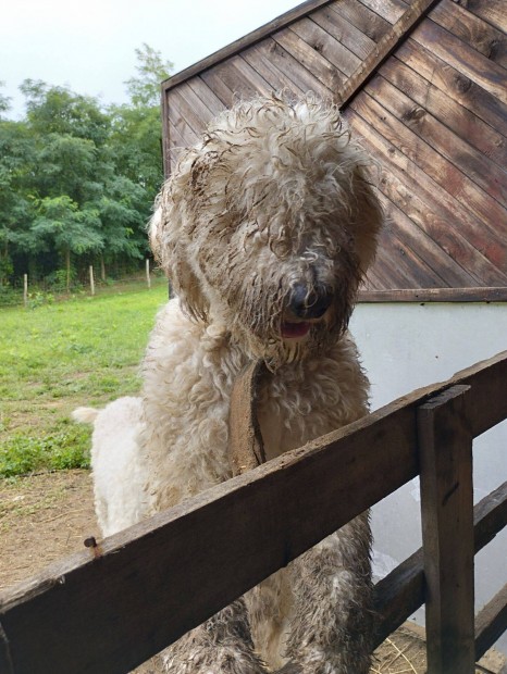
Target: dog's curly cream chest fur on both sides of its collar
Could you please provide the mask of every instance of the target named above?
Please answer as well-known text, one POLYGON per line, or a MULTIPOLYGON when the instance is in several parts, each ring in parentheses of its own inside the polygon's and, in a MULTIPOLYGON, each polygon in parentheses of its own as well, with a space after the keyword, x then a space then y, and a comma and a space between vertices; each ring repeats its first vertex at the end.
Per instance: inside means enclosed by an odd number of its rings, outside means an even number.
MULTIPOLYGON (((231 392, 247 363, 224 326, 196 325, 174 301, 160 312, 145 359, 140 439, 157 483, 149 488, 157 494, 154 509, 231 475, 231 392)), ((345 334, 325 355, 264 375, 257 413, 267 458, 339 428, 367 410, 368 380, 345 334)))

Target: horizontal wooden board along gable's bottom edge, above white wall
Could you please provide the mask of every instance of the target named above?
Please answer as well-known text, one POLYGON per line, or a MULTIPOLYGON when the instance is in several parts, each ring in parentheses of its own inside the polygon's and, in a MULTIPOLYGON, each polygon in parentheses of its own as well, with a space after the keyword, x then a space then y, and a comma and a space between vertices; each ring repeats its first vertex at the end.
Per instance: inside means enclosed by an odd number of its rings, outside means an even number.
POLYGON ((359 290, 358 302, 507 302, 504 288, 418 288, 383 290, 378 278, 373 288, 359 290))

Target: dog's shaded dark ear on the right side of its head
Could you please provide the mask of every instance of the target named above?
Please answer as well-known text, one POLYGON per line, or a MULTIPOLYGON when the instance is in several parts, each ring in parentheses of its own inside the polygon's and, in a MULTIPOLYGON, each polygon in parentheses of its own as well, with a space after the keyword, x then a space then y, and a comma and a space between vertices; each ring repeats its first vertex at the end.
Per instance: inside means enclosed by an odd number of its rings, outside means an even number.
POLYGON ((373 262, 376 240, 384 221, 382 205, 372 184, 372 167, 356 166, 353 173, 351 226, 361 273, 373 262))

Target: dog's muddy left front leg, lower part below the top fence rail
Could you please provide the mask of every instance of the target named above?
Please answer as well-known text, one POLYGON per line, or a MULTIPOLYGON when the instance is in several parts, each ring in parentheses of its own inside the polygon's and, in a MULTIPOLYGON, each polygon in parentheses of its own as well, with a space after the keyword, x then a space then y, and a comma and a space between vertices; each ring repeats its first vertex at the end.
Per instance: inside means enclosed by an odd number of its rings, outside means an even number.
POLYGON ((163 652, 170 674, 264 674, 253 652, 243 599, 219 611, 163 652))

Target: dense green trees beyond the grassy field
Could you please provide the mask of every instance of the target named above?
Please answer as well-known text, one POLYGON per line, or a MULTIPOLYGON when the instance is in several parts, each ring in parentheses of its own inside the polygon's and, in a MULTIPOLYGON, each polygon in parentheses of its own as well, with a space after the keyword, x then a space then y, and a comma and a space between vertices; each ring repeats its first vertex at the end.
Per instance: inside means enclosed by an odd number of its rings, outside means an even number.
MULTIPOLYGON (((145 226, 162 182, 158 91, 172 64, 136 50, 131 101, 103 108, 67 87, 26 79, 26 115, 0 92, 0 286, 27 271, 79 272, 147 254, 145 226)), ((1 87, 1 83, 0 83, 1 87)))

